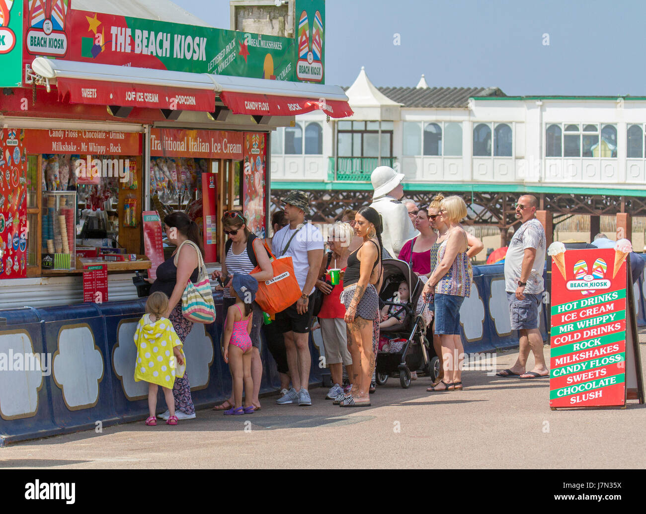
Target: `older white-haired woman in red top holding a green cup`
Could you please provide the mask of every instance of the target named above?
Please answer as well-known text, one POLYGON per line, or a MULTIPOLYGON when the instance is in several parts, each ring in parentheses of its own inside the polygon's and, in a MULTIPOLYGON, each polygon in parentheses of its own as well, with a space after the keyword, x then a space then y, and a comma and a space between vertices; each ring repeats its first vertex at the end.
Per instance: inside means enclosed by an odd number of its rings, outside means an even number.
POLYGON ((325 347, 326 363, 332 378, 332 387, 326 398, 333 400, 343 393, 342 373, 343 365, 346 366, 348 377, 351 380, 352 357, 348 351, 348 338, 346 333, 346 307, 341 303, 340 296, 343 292, 343 280, 338 285, 332 286, 326 277, 328 269, 346 271, 348 265, 348 247, 355 236, 355 231, 349 223, 337 222, 329 230, 328 245, 331 252, 323 256, 316 287, 324 294, 318 323, 325 347), (328 280, 326 281, 326 278, 328 280))

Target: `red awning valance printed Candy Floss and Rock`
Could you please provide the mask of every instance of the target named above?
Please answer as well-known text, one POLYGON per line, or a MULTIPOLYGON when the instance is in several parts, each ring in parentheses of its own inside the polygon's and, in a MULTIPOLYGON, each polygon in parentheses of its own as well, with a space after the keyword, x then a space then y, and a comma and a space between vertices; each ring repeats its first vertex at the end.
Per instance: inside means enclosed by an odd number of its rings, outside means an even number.
POLYGON ((253 114, 256 116, 295 116, 313 110, 322 110, 330 118, 345 118, 353 114, 348 102, 326 100, 324 98, 297 98, 223 91, 220 99, 233 114, 253 114))

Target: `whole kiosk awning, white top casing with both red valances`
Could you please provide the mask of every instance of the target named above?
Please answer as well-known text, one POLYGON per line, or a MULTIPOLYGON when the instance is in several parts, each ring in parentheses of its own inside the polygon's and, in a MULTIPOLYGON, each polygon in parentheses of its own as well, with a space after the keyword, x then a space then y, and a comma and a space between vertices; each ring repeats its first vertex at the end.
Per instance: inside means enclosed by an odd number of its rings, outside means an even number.
MULTIPOLYGON (((147 68, 79 63, 36 57, 32 70, 56 84, 70 103, 214 112, 219 96, 234 114, 295 116, 321 110, 331 118, 353 112, 338 86, 147 68)), ((129 111, 127 111, 129 112, 129 111)), ((127 116, 127 114, 126 114, 127 116)))

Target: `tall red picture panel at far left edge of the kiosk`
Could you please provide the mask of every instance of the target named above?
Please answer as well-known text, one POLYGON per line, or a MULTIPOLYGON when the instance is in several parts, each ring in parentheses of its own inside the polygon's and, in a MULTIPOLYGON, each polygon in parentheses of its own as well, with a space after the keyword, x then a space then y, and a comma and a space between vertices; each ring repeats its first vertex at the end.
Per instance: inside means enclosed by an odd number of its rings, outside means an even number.
POLYGON ((24 129, 0 129, 0 279, 26 276, 24 139, 24 129))

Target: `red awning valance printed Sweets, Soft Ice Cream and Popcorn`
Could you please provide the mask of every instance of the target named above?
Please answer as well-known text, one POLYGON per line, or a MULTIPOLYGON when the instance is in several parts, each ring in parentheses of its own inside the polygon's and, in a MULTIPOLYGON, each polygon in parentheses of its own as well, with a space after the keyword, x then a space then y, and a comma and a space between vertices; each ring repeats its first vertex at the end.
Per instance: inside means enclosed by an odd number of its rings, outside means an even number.
POLYGON ((215 109, 213 88, 177 88, 70 78, 57 79, 56 87, 61 98, 69 95, 70 103, 202 112, 213 112, 215 109))

